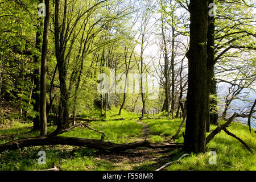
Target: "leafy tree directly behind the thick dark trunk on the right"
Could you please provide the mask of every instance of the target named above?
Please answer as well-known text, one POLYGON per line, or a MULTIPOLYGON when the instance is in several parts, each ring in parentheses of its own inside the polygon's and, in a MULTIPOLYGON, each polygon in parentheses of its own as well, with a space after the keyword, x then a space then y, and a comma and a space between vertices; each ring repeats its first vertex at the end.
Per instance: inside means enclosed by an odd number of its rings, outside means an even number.
MULTIPOLYGON (((213 99, 209 101, 209 96, 216 97, 216 75, 214 72, 217 67, 225 67, 224 65, 231 63, 234 65, 234 56, 241 55, 241 52, 248 51, 248 49, 254 48, 255 31, 251 26, 251 22, 254 20, 254 15, 251 13, 251 7, 253 7, 253 1, 209 1, 209 18, 208 18, 208 43, 207 43, 207 74, 208 74, 208 99, 207 99, 207 130, 209 131, 209 125, 217 124, 218 114, 217 112, 210 112, 209 104, 217 106, 217 100, 213 99), (251 4, 251 5, 250 5, 251 4), (215 7, 216 6, 216 7, 215 7), (214 15, 216 8, 216 14, 214 15), (213 10, 213 11, 212 11, 213 10), (237 11, 242 10, 242 11, 237 11), (239 39, 238 39, 239 37, 239 39), (251 38, 249 38, 251 37, 251 38), (248 41, 250 39, 250 41, 248 41), (242 45, 242 46, 241 46, 242 45), (214 49, 213 49, 214 47, 214 49), (236 51, 238 49, 238 51, 236 51), (214 70, 215 67, 215 70, 214 70)), ((223 69, 221 68, 221 72, 223 69)), ((228 71, 226 69, 226 71, 228 71)))

